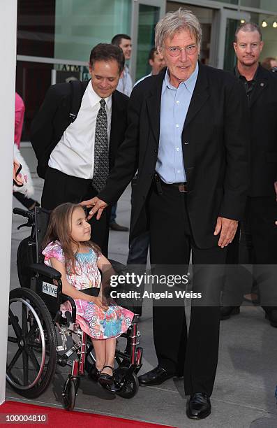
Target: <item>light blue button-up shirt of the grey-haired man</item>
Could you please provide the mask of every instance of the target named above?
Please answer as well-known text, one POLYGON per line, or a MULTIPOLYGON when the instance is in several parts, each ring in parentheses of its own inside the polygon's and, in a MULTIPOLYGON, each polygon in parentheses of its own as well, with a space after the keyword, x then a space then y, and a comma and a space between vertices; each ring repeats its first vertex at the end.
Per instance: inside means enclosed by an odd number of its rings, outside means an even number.
POLYGON ((168 69, 163 80, 156 172, 167 184, 186 182, 181 137, 197 76, 198 63, 192 75, 179 87, 171 85, 168 69))

